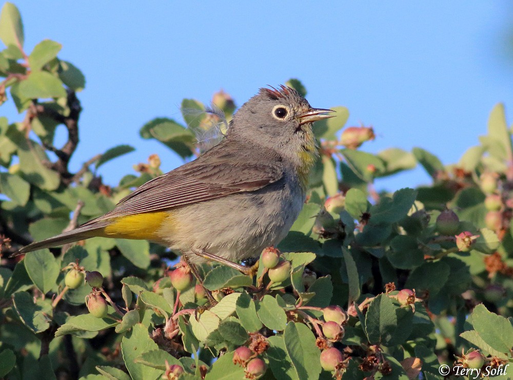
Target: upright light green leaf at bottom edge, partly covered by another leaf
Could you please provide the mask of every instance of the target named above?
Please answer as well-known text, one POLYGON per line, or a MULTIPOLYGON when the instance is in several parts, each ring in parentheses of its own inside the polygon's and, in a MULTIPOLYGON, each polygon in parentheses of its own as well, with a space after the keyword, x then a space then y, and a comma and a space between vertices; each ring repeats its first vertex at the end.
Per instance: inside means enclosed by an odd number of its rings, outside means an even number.
POLYGON ((143 353, 157 350, 159 346, 148 335, 148 330, 142 324, 137 324, 132 331, 123 337, 121 351, 123 361, 132 378, 154 379, 162 374, 161 370, 136 363, 135 359, 143 353))

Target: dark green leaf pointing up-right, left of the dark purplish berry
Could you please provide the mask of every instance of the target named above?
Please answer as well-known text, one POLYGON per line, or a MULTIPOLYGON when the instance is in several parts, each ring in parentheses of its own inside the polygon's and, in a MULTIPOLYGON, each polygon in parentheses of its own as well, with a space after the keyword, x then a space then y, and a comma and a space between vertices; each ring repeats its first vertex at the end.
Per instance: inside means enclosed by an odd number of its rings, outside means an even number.
POLYGON ((369 223, 380 224, 399 222, 406 216, 411 206, 413 206, 416 197, 417 191, 408 188, 394 192, 392 199, 382 197, 379 204, 371 207, 369 223))

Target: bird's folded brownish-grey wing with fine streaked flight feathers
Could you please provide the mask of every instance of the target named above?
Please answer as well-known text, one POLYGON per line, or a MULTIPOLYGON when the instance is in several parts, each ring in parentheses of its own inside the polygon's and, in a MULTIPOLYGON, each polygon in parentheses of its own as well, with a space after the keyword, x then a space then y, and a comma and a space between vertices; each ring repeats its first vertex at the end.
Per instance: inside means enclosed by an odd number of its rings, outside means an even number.
POLYGON ((196 160, 161 175, 123 198, 109 213, 84 226, 120 216, 155 212, 208 201, 229 194, 261 189, 282 176, 274 165, 257 162, 196 160), (197 162, 196 161, 201 161, 197 162))

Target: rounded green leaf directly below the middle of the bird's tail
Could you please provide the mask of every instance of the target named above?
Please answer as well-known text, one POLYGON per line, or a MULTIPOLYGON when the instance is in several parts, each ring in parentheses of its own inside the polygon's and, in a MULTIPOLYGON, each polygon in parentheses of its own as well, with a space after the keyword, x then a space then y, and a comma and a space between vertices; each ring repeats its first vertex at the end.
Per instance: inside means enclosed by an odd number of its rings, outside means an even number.
POLYGON ((40 249, 25 255, 25 268, 29 277, 43 294, 55 286, 61 271, 60 265, 48 249, 40 249))

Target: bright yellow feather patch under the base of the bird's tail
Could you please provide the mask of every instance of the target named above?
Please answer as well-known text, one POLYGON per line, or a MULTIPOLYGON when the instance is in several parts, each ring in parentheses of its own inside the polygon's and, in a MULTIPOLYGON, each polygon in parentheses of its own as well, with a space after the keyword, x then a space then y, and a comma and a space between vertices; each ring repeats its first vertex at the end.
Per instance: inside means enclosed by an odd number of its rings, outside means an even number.
POLYGON ((155 240, 159 238, 157 232, 165 221, 173 223, 171 214, 165 211, 120 216, 102 232, 105 237, 155 240))

